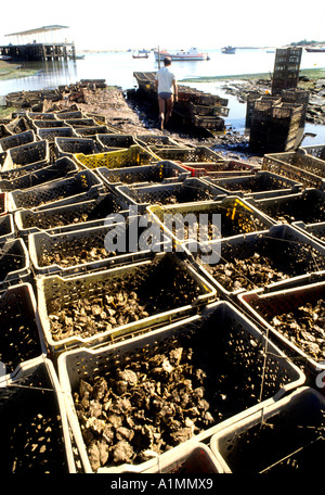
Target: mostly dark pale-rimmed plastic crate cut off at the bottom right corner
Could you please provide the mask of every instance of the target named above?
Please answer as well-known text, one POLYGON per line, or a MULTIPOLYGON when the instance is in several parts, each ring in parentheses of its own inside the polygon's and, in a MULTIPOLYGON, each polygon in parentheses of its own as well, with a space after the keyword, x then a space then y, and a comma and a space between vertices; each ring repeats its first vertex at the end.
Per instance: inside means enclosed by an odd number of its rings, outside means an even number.
POLYGON ((299 388, 252 415, 225 422, 210 447, 226 473, 283 478, 320 472, 324 412, 324 396, 312 388, 299 388))

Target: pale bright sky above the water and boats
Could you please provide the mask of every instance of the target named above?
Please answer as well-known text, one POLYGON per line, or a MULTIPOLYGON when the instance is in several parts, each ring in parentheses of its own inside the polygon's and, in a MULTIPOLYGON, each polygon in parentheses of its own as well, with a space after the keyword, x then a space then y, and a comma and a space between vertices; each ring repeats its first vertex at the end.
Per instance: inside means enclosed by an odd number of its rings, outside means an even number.
POLYGON ((95 0, 92 8, 91 2, 69 0, 2 3, 1 45, 16 42, 4 35, 49 25, 69 29, 48 36, 48 41, 67 38, 77 50, 204 50, 325 40, 324 0, 313 0, 311 10, 307 2, 291 0, 95 0))

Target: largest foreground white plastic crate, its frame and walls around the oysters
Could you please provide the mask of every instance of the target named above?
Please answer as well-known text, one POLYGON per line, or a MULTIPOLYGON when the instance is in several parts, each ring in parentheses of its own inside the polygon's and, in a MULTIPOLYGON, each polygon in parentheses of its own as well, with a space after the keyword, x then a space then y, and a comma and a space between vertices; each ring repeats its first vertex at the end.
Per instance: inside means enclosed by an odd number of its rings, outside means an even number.
MULTIPOLYGON (((268 341, 251 321, 233 305, 225 302, 210 304, 196 316, 173 322, 154 332, 134 337, 119 344, 102 346, 96 350, 79 347, 67 351, 58 356, 58 377, 66 399, 66 410, 73 437, 86 472, 93 472, 93 470, 74 403, 74 394, 79 389, 80 379, 92 382, 95 377, 106 377, 109 380, 109 373, 112 373, 109 383, 114 388, 114 371, 117 367, 120 370, 126 368, 138 371, 141 376, 142 366, 150 363, 153 356, 159 356, 161 353, 168 354, 176 348, 181 348, 183 353, 191 350, 191 357, 190 355, 186 357, 187 354, 183 356, 184 369, 186 369, 188 360, 193 373, 199 369, 202 376, 206 377, 207 382, 204 381, 206 395, 204 397, 208 403, 210 402, 209 412, 212 415, 210 424, 206 427, 200 424, 195 436, 187 441, 180 441, 179 446, 174 446, 179 456, 188 452, 194 442, 206 443, 209 441, 225 418, 230 418, 231 421, 234 415, 239 415, 239 417, 251 415, 302 385, 306 380, 304 375, 291 361, 284 359, 281 351, 268 341), (222 359, 225 361, 221 363, 222 359), (253 381, 253 376, 260 385, 263 382, 262 390, 259 386, 256 389, 253 383, 247 385, 247 366, 250 369, 251 380, 253 381), (209 389, 208 383, 211 384, 211 389, 209 389), (223 397, 224 390, 230 391, 225 397, 223 397)), ((173 364, 174 372, 179 369, 178 363, 173 364)), ((138 386, 145 385, 146 382, 150 386, 152 383, 151 368, 146 367, 146 370, 145 381, 139 383, 138 386)), ((165 381, 167 380, 166 377, 165 381)), ((196 381, 194 378, 193 380, 194 388, 196 381)), ((164 391, 166 392, 166 384, 164 391)), ((156 392, 156 394, 160 393, 156 392)), ((117 393, 116 398, 118 396, 117 393)), ((134 406, 134 410, 138 408, 139 406, 134 406)), ((156 424, 156 421, 153 418, 153 423, 156 424)), ((168 431, 168 427, 165 428, 168 431)), ((161 466, 164 467, 170 465, 172 459, 178 457, 173 453, 173 448, 164 452, 164 447, 161 447, 161 466)), ((123 472, 126 470, 131 472, 135 468, 141 472, 155 472, 158 461, 159 459, 153 459, 148 455, 147 461, 133 461, 128 469, 125 465, 114 466, 114 461, 110 460, 104 470, 105 472, 117 472, 120 468, 123 472)))

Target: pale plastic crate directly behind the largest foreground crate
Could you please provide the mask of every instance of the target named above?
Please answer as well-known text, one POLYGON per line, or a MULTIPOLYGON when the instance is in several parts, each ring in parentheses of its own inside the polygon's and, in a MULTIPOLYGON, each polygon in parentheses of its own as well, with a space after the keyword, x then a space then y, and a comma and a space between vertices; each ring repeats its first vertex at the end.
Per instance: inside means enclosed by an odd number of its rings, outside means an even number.
MULTIPOLYGON (((188 263, 170 253, 139 252, 129 255, 129 263, 121 267, 66 278, 41 277, 36 280, 36 284, 40 325, 47 345, 55 354, 74 346, 90 347, 132 337, 134 332, 147 331, 167 321, 184 318, 197 310, 199 306, 216 299, 216 290, 188 263), (188 299, 186 296, 186 303, 183 297, 178 299, 178 289, 174 285, 180 274, 183 274, 184 278, 179 283, 184 283, 186 290, 190 291, 190 288, 192 290, 192 296, 188 295, 188 299), (154 280, 155 277, 156 280, 154 280), (159 290, 159 277, 160 283, 165 277, 165 292, 164 295, 156 295, 154 303, 153 294, 159 290), (135 278, 138 278, 138 284, 135 278), (57 313, 58 301, 63 302, 62 309, 65 310, 68 304, 76 305, 80 299, 89 297, 93 301, 96 294, 99 297, 110 295, 109 290, 113 293, 122 282, 126 282, 127 290, 134 292, 141 304, 145 305, 148 316, 141 316, 138 320, 131 317, 129 322, 122 325, 118 321, 109 326, 95 323, 90 337, 84 337, 84 330, 72 330, 67 337, 63 334, 55 339, 55 334, 51 332, 49 315, 57 313), (170 294, 173 291, 174 296, 171 297, 170 294), (182 301, 182 304, 179 301, 182 301)), ((105 323, 105 320, 103 322, 105 323)))

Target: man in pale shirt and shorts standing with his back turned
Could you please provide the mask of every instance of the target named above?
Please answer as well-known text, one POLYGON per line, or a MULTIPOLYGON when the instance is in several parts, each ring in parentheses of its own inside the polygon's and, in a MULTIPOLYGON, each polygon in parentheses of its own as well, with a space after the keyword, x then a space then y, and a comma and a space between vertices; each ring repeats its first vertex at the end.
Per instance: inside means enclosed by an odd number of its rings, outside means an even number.
POLYGON ((164 65, 156 73, 155 77, 155 85, 158 91, 159 126, 161 130, 164 129, 164 122, 167 124, 171 117, 173 103, 178 99, 178 85, 173 72, 170 71, 171 59, 169 56, 164 59, 164 65))

